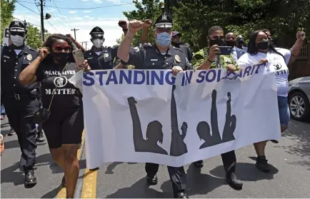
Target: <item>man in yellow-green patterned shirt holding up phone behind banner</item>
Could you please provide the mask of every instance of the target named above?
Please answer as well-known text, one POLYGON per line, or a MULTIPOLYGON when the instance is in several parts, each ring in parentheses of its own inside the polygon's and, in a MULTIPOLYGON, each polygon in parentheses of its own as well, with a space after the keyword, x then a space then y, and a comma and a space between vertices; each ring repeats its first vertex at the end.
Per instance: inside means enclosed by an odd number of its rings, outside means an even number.
MULTIPOLYGON (((209 29, 207 40, 209 46, 201 49, 194 54, 193 65, 198 70, 209 70, 210 68, 227 68, 228 71, 234 71, 238 68, 236 61, 231 55, 220 55, 219 46, 226 46, 224 31, 220 26, 212 26, 209 29)), ((242 183, 236 175, 236 153, 231 150, 221 154, 226 171, 226 181, 235 190, 242 189, 242 183)), ((204 166, 203 160, 194 163, 196 168, 204 166)))

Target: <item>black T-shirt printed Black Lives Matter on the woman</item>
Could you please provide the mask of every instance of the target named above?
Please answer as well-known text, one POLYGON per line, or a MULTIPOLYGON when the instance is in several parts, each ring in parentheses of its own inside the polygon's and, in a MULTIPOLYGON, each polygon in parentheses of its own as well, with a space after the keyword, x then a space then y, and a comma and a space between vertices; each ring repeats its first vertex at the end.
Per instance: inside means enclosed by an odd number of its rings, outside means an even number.
POLYGON ((82 104, 79 88, 68 81, 77 72, 76 63, 68 63, 64 67, 64 64, 41 63, 36 71, 37 81, 41 82, 42 103, 45 108, 48 108, 53 94, 51 110, 78 108, 82 104))

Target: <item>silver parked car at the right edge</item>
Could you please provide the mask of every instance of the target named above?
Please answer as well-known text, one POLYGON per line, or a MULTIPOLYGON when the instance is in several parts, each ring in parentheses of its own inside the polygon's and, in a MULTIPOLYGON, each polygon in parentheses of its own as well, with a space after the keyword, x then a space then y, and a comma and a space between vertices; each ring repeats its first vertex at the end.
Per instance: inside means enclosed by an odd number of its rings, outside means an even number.
POLYGON ((291 118, 304 121, 310 116, 310 76, 289 81, 289 111, 291 118))

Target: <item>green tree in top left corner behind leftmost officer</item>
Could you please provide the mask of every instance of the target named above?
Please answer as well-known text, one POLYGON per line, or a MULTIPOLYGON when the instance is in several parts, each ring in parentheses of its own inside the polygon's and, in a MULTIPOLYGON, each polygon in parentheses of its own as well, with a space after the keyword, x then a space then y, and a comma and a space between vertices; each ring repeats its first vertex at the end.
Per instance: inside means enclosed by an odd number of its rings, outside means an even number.
POLYGON ((13 20, 13 12, 15 10, 15 0, 1 0, 1 36, 2 44, 4 28, 9 26, 13 20))

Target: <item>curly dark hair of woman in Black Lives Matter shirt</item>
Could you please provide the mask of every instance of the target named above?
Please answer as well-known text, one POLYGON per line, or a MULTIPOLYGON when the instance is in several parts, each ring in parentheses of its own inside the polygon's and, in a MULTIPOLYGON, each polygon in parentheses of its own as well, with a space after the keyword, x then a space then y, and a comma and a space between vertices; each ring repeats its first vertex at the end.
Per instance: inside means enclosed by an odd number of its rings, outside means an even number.
MULTIPOLYGON (((42 47, 47 47, 50 49, 51 53, 53 52, 52 50, 52 46, 53 44, 57 41, 57 40, 64 40, 66 41, 66 43, 69 44, 69 46, 71 46, 71 49, 72 51, 74 50, 74 44, 72 42, 72 40, 68 37, 68 36, 65 36, 63 34, 51 34, 47 39, 46 41, 44 42, 43 46, 42 47)), ((44 61, 52 61, 53 57, 52 56, 48 56, 44 59, 44 61)), ((69 59, 68 59, 69 62, 75 62, 74 61, 74 56, 72 53, 69 54, 69 59)))

